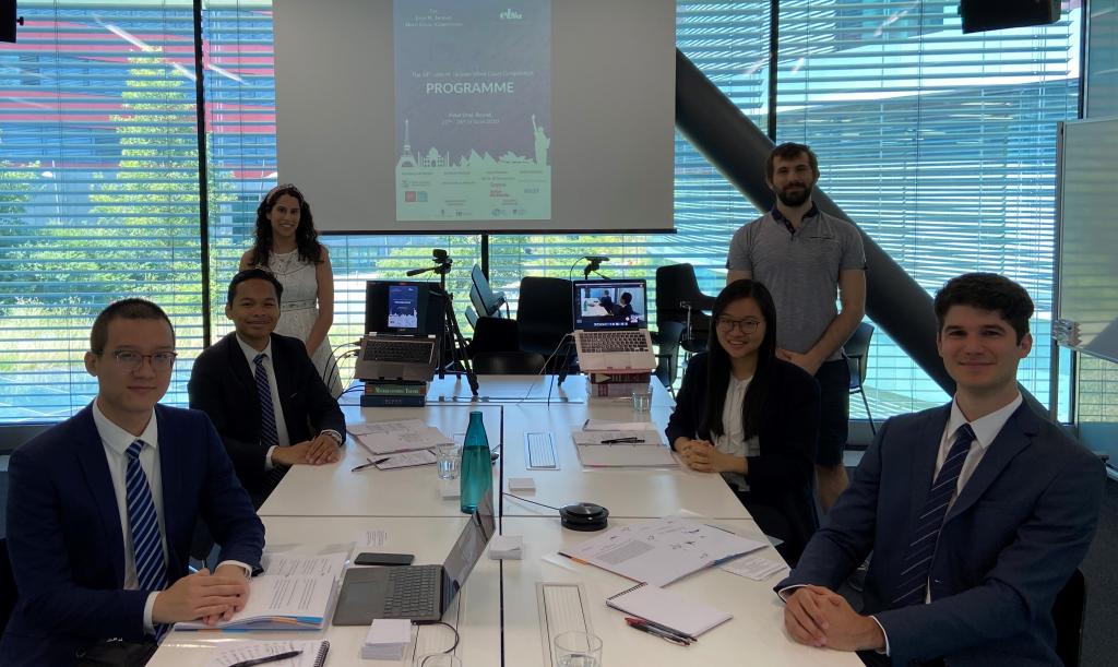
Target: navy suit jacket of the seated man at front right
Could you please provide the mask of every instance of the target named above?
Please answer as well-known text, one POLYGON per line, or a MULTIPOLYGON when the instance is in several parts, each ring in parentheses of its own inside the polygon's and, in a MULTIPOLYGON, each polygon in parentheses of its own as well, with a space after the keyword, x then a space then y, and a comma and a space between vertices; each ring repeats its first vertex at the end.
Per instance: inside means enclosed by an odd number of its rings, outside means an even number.
POLYGON ((1022 404, 944 520, 929 604, 889 609, 922 509, 950 404, 890 419, 799 565, 777 585, 836 590, 863 562, 863 613, 893 665, 1060 665, 1052 603, 1095 534, 1106 475, 1090 451, 1022 404))

